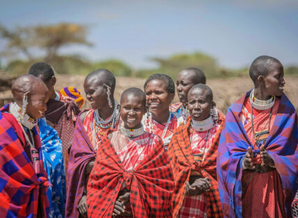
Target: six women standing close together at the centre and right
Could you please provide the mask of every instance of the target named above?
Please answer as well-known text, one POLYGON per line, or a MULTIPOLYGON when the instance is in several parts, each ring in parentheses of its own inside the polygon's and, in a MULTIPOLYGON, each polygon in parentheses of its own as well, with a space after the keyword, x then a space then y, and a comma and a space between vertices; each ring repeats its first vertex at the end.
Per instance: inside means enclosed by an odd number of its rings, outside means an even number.
POLYGON ((77 120, 70 150, 66 217, 291 217, 297 192, 297 114, 283 93, 283 66, 253 61, 254 88, 227 117, 205 75, 148 77, 120 104, 116 79, 84 81, 91 109, 77 120))

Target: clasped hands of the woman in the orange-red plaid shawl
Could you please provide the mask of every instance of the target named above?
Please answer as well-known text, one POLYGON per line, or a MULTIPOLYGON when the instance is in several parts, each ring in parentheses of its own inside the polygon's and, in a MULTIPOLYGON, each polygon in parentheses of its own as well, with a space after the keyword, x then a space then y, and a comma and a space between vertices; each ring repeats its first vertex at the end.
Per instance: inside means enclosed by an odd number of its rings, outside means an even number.
POLYGON ((210 190, 210 179, 209 178, 198 178, 189 185, 189 182, 186 182, 185 189, 187 190, 187 194, 196 196, 199 194, 203 194, 204 192, 209 192, 210 190))

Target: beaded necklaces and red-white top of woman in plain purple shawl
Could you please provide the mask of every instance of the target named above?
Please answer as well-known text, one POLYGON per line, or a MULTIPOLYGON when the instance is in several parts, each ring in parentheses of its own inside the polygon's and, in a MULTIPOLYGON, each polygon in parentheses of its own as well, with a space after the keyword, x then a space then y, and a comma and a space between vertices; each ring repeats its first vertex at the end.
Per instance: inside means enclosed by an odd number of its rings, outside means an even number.
POLYGON ((93 123, 92 123, 92 139, 93 139, 93 148, 94 150, 98 149, 98 145, 101 141, 101 138, 104 136, 106 131, 102 132, 101 129, 114 129, 116 127, 116 123, 119 119, 119 113, 117 111, 117 102, 114 100, 114 109, 113 114, 107 120, 104 120, 100 117, 98 110, 94 111, 93 114, 93 123), (98 135, 100 134, 100 136, 98 135))

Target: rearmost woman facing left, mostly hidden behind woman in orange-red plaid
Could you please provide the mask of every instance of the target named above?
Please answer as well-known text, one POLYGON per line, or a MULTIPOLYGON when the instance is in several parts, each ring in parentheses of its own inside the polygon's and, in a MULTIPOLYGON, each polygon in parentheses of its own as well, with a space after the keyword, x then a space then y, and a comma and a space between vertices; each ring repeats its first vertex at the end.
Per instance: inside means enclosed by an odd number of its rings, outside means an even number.
POLYGON ((198 68, 186 68, 181 70, 176 81, 176 90, 180 102, 171 104, 170 111, 180 114, 186 119, 189 116, 187 109, 187 93, 196 84, 206 84, 206 77, 203 70, 198 68))

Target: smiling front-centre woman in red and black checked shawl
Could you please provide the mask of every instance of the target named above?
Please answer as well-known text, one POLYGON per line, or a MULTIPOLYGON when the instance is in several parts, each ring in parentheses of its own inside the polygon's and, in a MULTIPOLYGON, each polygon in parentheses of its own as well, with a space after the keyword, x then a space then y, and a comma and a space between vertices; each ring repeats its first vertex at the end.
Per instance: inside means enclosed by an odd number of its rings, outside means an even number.
POLYGON ((145 112, 141 89, 123 92, 123 124, 98 146, 88 182, 88 217, 171 217, 171 166, 162 140, 143 130, 145 112))

